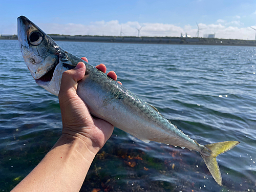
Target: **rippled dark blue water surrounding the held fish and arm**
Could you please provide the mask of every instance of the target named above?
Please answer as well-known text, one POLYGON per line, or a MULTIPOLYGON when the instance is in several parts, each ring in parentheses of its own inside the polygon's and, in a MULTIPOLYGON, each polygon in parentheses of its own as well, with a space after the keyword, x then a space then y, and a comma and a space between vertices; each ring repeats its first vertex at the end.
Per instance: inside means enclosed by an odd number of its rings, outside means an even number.
MULTIPOLYGON (((241 142, 218 157, 221 187, 199 153, 115 128, 81 191, 255 191, 254 47, 58 44, 114 70, 124 87, 199 143, 241 142)), ((0 67, 0 191, 8 191, 44 158, 62 125, 58 98, 34 82, 17 41, 0 41, 0 67)))

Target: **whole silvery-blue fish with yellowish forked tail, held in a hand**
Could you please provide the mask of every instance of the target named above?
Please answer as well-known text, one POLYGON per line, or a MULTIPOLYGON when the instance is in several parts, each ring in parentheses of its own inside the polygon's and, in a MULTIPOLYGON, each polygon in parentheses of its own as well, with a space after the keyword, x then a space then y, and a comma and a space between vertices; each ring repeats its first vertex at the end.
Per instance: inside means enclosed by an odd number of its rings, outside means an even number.
POLYGON ((239 141, 199 144, 164 118, 151 104, 88 62, 63 50, 51 37, 25 16, 17 18, 18 42, 25 63, 38 86, 58 96, 62 73, 86 65, 84 77, 78 81, 77 94, 90 113, 144 142, 155 141, 180 146, 200 153, 215 181, 222 186, 216 157, 231 150, 239 141))

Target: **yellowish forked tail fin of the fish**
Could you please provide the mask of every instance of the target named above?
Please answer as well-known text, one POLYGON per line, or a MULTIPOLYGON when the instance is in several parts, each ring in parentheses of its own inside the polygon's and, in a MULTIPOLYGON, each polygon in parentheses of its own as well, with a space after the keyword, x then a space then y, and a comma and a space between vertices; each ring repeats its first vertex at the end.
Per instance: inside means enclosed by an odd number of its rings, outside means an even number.
POLYGON ((222 178, 221 172, 216 160, 216 157, 222 153, 231 150, 234 146, 237 146, 240 142, 239 141, 224 141, 220 143, 212 143, 208 145, 204 145, 211 151, 211 155, 206 155, 201 153, 201 156, 208 167, 212 177, 214 177, 215 181, 222 186, 222 178))

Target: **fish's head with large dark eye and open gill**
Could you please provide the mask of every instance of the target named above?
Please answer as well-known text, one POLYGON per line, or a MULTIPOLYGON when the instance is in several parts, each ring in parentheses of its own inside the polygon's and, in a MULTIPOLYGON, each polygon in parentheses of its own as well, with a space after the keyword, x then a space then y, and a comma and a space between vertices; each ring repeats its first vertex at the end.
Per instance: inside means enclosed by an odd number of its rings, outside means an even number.
POLYGON ((35 82, 58 96, 62 73, 75 67, 64 50, 25 16, 19 16, 18 42, 35 82), (64 63, 62 60, 65 60, 64 63))

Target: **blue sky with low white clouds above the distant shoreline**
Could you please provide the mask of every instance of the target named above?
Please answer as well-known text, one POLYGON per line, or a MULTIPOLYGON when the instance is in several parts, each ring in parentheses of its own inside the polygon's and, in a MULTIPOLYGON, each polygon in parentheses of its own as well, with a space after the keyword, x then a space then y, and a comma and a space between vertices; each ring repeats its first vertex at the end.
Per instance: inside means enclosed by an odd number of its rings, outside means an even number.
POLYGON ((17 34, 24 15, 48 34, 173 36, 254 40, 256 1, 0 0, 0 34, 17 34), (197 24, 196 24, 197 23, 197 24), (137 28, 137 29, 136 29, 137 28))

